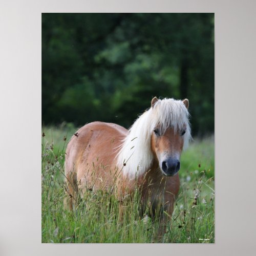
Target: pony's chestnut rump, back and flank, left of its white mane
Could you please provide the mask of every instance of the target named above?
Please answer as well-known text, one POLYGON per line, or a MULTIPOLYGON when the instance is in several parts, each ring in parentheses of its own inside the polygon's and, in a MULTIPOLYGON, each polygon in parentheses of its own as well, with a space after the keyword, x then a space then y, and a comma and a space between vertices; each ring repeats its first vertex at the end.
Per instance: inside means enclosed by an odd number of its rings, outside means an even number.
POLYGON ((112 185, 116 154, 127 135, 114 123, 92 122, 81 127, 71 138, 65 159, 67 192, 72 205, 78 189, 99 189, 112 185))

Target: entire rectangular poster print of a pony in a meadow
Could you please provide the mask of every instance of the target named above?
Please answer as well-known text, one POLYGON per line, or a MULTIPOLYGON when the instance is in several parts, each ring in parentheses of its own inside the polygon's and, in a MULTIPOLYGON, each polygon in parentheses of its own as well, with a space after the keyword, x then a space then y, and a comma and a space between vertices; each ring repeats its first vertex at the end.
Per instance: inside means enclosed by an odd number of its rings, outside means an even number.
POLYGON ((41 243, 215 243, 215 13, 41 13, 41 243))

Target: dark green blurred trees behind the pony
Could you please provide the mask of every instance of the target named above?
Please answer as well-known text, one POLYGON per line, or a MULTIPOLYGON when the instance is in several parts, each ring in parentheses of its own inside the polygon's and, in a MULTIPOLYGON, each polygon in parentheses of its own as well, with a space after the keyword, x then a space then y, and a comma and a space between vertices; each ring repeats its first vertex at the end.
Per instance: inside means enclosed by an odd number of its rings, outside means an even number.
POLYGON ((214 133, 214 13, 43 13, 42 123, 129 128, 152 97, 189 99, 214 133))

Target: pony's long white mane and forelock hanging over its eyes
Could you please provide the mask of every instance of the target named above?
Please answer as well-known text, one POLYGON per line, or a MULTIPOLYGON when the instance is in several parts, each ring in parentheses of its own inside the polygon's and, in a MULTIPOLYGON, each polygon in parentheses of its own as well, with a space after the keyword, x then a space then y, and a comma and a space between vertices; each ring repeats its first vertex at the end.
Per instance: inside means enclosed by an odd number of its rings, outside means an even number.
POLYGON ((124 175, 134 178, 147 172, 154 156, 151 151, 151 135, 156 126, 159 126, 163 134, 168 127, 182 131, 184 134, 184 148, 190 140, 189 113, 181 100, 158 100, 154 107, 145 111, 129 129, 129 134, 123 139, 120 151, 117 155, 117 165, 123 166, 124 175))

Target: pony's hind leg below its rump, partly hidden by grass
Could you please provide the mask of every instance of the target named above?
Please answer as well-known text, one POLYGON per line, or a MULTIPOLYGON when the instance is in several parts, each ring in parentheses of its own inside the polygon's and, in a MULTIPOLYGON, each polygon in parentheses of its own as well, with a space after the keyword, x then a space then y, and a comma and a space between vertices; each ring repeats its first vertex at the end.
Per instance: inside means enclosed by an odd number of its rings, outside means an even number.
POLYGON ((69 172, 67 174, 65 190, 64 207, 65 209, 72 210, 77 203, 78 195, 77 176, 75 172, 69 172))

